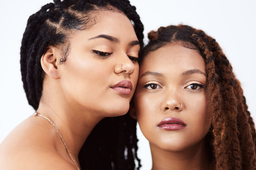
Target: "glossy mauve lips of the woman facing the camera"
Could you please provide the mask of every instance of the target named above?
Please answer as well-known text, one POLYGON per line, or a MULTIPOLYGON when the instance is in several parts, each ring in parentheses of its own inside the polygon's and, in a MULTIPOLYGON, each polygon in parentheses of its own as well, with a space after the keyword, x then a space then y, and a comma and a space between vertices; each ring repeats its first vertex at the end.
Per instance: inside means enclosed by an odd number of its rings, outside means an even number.
POLYGON ((181 130, 184 129, 187 125, 178 117, 167 117, 162 120, 157 126, 160 129, 165 130, 181 130))

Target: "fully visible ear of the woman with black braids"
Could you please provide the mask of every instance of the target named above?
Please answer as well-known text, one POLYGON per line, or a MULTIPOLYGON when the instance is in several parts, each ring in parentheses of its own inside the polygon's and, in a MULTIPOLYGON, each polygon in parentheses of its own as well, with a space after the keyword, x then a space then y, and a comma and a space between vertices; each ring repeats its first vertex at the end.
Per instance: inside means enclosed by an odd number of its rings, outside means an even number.
POLYGON ((58 54, 56 47, 48 46, 41 57, 42 69, 53 79, 60 78, 58 72, 58 54))

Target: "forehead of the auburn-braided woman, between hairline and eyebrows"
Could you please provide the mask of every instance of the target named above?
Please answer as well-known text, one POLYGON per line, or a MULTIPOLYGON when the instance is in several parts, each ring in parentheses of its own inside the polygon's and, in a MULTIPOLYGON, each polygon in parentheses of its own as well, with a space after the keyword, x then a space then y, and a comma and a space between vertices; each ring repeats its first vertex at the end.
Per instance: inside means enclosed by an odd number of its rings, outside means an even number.
POLYGON ((140 75, 147 71, 178 73, 189 69, 205 72, 205 62, 196 49, 182 44, 166 44, 148 53, 140 65, 140 75))

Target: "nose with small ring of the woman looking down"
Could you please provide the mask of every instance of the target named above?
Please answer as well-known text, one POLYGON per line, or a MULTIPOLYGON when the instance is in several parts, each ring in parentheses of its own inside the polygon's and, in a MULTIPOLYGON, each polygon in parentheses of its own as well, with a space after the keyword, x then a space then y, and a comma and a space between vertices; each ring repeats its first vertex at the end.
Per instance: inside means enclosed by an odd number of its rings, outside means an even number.
POLYGON ((125 72, 127 74, 132 74, 135 70, 135 62, 130 60, 126 54, 122 54, 121 60, 115 66, 115 73, 125 72))

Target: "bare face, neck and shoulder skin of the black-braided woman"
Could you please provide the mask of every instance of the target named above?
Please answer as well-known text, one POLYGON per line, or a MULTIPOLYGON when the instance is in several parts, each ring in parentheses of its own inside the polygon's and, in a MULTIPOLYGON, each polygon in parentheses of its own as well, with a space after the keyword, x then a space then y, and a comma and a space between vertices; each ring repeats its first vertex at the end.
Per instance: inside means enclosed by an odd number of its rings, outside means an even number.
MULTIPOLYGON (((130 20, 121 12, 101 11, 96 21, 71 34, 63 64, 59 46, 49 46, 41 57, 45 77, 37 112, 58 127, 78 164, 93 127, 128 111, 138 79, 140 45, 130 20), (131 81, 130 95, 111 88, 122 80, 131 81)), ((40 116, 18 125, 0 153, 0 169, 77 169, 55 128, 40 116)))

